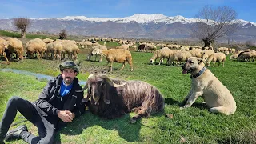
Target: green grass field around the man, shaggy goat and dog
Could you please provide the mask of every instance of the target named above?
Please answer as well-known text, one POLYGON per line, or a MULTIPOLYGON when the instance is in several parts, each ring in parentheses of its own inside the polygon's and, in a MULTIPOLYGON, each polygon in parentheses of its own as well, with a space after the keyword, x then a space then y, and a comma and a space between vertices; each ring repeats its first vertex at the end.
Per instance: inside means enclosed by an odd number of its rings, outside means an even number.
MULTIPOLYGON (((136 124, 128 122, 134 113, 106 120, 86 111, 81 118, 57 134, 57 143, 180 143, 181 138, 185 138, 187 143, 256 142, 255 62, 235 62, 226 58, 224 68, 209 68, 230 90, 237 102, 236 113, 226 116, 210 114, 208 108, 202 104, 202 98, 198 98, 190 108, 180 110, 178 104, 190 90, 190 75, 182 74, 182 69, 176 66, 149 65, 152 53, 132 52, 132 56, 133 72, 130 72, 128 64, 124 70, 118 71, 122 64, 114 63, 114 71, 107 75, 111 78, 142 80, 156 86, 165 98, 165 111, 153 114, 150 118, 142 118, 136 124), (173 118, 166 117, 166 114, 173 114, 173 118)), ((83 50, 78 54, 78 59, 82 61, 78 75, 81 80, 86 80, 90 72, 106 73, 108 70, 106 59, 103 58, 102 62, 85 61, 86 54, 83 50)), ((0 69, 14 68, 57 76, 58 64, 57 61, 25 59, 23 63, 1 64, 0 69)), ((34 101, 46 85, 46 81, 39 81, 32 76, 10 72, 0 72, 0 75, 0 117, 5 110, 7 99, 12 95, 34 101)), ((21 121, 19 117, 20 114, 15 122, 21 121)), ((36 128, 30 122, 24 123, 29 130, 37 134, 36 128)), ((21 142, 22 140, 12 143, 21 142)))

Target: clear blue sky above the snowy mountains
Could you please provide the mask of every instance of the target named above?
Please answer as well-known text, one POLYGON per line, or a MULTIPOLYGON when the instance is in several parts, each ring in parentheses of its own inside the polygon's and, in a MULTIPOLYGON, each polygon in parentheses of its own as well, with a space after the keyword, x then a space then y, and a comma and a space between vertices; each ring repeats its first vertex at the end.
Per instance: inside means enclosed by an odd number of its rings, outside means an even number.
POLYGON ((237 11, 238 19, 256 22, 255 0, 2 0, 0 18, 117 18, 134 14, 194 18, 206 5, 230 6, 237 11))

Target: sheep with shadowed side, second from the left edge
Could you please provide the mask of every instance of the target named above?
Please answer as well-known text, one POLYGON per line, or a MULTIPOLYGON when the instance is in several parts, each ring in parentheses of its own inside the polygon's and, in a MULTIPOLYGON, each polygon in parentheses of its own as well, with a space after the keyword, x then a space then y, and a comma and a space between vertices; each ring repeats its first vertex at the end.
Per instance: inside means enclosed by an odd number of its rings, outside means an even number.
POLYGON ((10 53, 10 59, 12 58, 12 54, 16 53, 16 58, 18 60, 22 59, 23 62, 23 53, 24 48, 22 41, 18 40, 17 38, 6 38, 7 41, 7 50, 10 53))

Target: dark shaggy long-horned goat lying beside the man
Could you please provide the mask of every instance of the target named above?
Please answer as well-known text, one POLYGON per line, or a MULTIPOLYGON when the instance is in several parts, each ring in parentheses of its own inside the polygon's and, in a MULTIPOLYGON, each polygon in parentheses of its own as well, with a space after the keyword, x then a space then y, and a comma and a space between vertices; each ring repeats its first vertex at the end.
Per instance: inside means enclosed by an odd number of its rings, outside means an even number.
POLYGON ((164 109, 162 94, 149 83, 142 81, 114 80, 103 74, 90 74, 86 86, 84 102, 92 113, 102 118, 118 118, 122 114, 137 113, 130 122, 134 123, 142 116, 164 109), (87 89, 88 88, 88 89, 87 89))

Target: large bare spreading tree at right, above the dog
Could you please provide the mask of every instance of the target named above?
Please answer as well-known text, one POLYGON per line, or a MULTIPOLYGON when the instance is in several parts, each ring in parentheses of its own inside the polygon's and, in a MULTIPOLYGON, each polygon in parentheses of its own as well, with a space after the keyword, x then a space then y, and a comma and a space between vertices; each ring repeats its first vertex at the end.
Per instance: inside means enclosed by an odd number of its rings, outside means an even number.
POLYGON ((192 26, 193 38, 201 39, 205 47, 210 46, 217 38, 232 34, 240 25, 234 20, 236 11, 227 6, 213 8, 205 6, 195 16, 197 23, 192 26))

